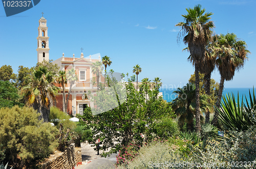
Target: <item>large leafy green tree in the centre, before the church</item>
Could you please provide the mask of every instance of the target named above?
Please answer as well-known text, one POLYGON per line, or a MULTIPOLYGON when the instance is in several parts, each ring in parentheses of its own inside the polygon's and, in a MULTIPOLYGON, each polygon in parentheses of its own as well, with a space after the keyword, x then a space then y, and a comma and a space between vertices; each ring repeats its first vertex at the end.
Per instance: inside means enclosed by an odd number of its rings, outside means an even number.
POLYGON ((174 116, 167 103, 162 102, 161 97, 157 98, 158 87, 149 90, 144 83, 136 91, 130 79, 122 82, 113 76, 106 78, 109 86, 90 97, 97 108, 92 108, 92 111, 88 108, 79 117, 84 120, 79 121, 80 125, 92 129, 93 142, 100 138, 103 150, 111 148, 109 153, 118 152, 131 141, 142 145, 144 139, 152 137, 153 126, 158 127, 154 120, 174 116))

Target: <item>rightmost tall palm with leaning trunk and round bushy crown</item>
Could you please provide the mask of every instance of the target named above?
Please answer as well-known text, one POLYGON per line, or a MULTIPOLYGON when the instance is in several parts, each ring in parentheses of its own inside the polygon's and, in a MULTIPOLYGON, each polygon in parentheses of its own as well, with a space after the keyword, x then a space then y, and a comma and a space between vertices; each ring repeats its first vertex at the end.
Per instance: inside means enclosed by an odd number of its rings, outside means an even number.
POLYGON ((218 57, 216 62, 221 74, 221 80, 212 124, 217 124, 218 108, 220 107, 224 81, 233 79, 234 72, 243 68, 245 60, 248 59, 247 55, 250 53, 246 48, 247 45, 245 41, 239 40, 237 35, 233 33, 218 36, 215 53, 218 57))

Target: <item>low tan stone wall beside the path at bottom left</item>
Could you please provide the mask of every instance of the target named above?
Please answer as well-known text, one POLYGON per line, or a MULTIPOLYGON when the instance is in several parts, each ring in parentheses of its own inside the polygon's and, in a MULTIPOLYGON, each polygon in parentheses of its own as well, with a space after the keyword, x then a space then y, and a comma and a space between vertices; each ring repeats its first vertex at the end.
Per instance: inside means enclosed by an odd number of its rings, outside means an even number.
POLYGON ((71 169, 78 164, 82 164, 81 148, 72 144, 59 156, 41 164, 41 169, 71 169))

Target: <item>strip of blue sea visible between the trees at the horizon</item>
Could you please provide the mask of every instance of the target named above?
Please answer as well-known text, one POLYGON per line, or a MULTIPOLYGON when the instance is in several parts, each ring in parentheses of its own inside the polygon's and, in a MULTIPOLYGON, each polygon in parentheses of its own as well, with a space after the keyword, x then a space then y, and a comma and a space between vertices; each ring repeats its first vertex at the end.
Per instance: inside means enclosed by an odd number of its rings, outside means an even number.
MULTIPOLYGON (((224 88, 222 95, 226 96, 228 93, 234 94, 234 98, 236 99, 236 102, 238 100, 238 93, 239 93, 239 99, 240 99, 240 104, 242 102, 242 96, 246 96, 247 99, 249 99, 249 90, 251 92, 252 95, 252 91, 253 88, 224 88)), ((254 93, 256 93, 256 89, 254 89, 254 93)), ((174 88, 160 88, 159 92, 162 92, 163 95, 163 99, 166 100, 167 102, 172 102, 176 97, 176 93, 173 93, 174 91, 176 91, 176 89, 174 88)), ((243 102, 245 103, 245 98, 243 100, 243 102)))

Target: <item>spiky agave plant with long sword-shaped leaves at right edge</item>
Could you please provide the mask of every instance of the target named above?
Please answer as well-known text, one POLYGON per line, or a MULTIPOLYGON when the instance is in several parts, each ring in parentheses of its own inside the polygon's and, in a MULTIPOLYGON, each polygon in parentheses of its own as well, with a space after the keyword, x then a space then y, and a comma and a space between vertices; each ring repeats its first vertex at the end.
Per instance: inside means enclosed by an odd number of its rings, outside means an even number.
POLYGON ((221 102, 221 108, 219 109, 219 121, 227 128, 233 129, 238 131, 244 131, 254 124, 252 117, 253 117, 253 110, 255 110, 256 106, 256 99, 253 94, 251 95, 249 91, 249 98, 250 101, 247 100, 246 96, 246 103, 243 102, 242 97, 242 104, 240 105, 240 98, 238 94, 238 103, 234 98, 234 94, 227 94, 226 97, 223 96, 223 101, 221 102), (250 104, 249 104, 250 102, 250 104))

